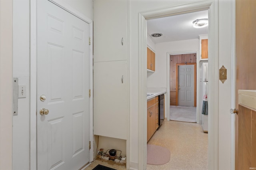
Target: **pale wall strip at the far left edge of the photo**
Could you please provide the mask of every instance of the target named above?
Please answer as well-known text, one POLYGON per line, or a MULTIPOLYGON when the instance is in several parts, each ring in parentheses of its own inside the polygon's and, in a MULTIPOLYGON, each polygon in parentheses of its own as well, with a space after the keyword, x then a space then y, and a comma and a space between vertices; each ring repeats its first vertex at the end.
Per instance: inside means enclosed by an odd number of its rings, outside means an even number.
POLYGON ((12 1, 0 0, 0 170, 12 169, 12 1))

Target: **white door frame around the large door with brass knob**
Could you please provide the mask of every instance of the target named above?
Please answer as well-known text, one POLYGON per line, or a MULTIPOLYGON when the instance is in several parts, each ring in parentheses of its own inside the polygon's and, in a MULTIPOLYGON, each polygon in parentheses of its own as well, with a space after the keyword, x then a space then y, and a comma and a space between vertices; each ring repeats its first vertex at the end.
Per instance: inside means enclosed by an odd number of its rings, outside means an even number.
MULTIPOLYGON (((93 44, 92 40, 92 20, 75 10, 74 8, 70 7, 68 4, 65 4, 61 0, 48 0, 60 8, 66 10, 67 12, 70 12, 74 16, 80 18, 84 22, 89 24, 89 33, 91 37, 91 44, 93 44)), ((37 169, 37 140, 36 140, 36 91, 37 91, 37 34, 36 34, 36 22, 37 22, 37 0, 30 0, 30 170, 36 170, 37 169)), ((89 41, 89 40, 88 40, 89 41)), ((90 87, 91 89, 91 96, 93 96, 93 79, 92 79, 92 45, 89 47, 89 61, 90 61, 90 87)), ((91 142, 91 149, 90 149, 90 155, 89 155, 89 161, 93 161, 93 97, 90 97, 90 141, 91 142)))

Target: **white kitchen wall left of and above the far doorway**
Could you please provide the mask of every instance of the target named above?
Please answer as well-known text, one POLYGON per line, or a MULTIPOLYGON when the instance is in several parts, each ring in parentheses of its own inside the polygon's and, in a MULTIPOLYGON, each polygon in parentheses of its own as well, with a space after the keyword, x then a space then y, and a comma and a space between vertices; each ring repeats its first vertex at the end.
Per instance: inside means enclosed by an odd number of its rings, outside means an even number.
MULTIPOLYGON (((148 72, 147 87, 167 88, 167 53, 198 51, 199 39, 156 43, 156 71, 148 72)), ((169 63, 170 64, 170 63, 169 63)))

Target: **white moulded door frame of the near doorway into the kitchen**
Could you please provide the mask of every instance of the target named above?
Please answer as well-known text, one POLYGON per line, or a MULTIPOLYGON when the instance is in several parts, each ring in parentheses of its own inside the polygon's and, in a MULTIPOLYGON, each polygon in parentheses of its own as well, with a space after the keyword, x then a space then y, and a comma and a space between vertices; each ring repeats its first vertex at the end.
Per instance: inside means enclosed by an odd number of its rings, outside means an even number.
MULTIPOLYGON (((208 10, 209 20, 209 113, 218 113, 218 0, 206 0, 203 2, 195 2, 174 6, 170 8, 163 8, 158 10, 150 10, 139 13, 138 21, 138 63, 140 65, 138 70, 138 169, 146 169, 146 20, 152 18, 161 18, 165 16, 173 16, 177 14, 184 14, 190 12, 197 12, 208 10), (214 57, 213 57, 214 56, 214 57)), ((208 169, 218 169, 218 114, 209 115, 208 124, 208 169)))

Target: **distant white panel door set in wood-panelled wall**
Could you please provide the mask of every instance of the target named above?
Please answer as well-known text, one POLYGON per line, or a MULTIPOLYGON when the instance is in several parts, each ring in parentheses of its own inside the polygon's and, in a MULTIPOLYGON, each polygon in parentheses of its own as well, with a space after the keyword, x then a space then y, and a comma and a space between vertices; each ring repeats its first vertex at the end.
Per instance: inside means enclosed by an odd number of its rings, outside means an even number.
POLYGON ((194 65, 178 65, 178 105, 194 106, 194 65))

